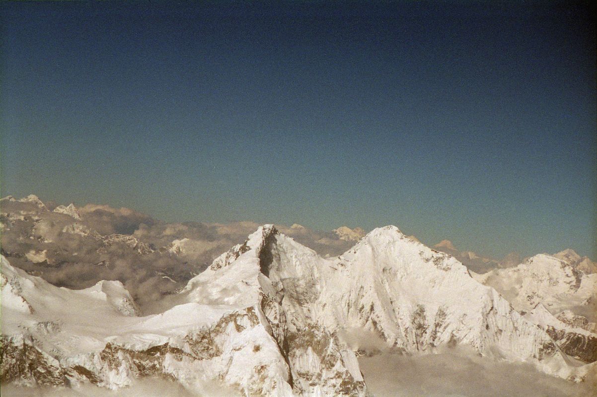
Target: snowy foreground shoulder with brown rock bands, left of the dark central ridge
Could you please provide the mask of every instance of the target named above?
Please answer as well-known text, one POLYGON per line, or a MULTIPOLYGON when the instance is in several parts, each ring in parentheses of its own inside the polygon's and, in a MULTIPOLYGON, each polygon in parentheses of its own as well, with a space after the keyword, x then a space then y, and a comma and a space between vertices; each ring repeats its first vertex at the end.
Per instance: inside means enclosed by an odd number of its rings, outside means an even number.
POLYGON ((117 282, 60 289, 2 257, 2 382, 116 389, 157 375, 198 392, 203 380, 223 379, 250 394, 291 395, 287 364, 254 308, 186 303, 134 314, 117 282))

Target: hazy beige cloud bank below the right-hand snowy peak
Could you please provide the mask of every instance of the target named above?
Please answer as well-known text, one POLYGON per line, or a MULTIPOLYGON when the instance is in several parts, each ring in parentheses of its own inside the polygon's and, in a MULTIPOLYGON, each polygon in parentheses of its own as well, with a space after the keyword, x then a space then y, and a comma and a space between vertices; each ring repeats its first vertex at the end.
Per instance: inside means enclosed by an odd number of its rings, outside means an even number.
POLYGON ((464 349, 417 357, 385 353, 361 357, 359 364, 371 397, 588 397, 597 390, 594 377, 574 383, 464 349))

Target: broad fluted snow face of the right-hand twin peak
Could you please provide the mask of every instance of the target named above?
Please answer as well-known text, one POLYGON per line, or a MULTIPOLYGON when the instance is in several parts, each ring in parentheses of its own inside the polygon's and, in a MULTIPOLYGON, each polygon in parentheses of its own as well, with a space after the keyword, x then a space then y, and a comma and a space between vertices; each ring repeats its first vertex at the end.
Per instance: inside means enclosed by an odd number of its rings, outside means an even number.
POLYGON ((335 267, 319 299, 329 328, 362 327, 411 353, 459 343, 496 358, 560 360, 549 337, 495 290, 398 228, 375 229, 335 267))

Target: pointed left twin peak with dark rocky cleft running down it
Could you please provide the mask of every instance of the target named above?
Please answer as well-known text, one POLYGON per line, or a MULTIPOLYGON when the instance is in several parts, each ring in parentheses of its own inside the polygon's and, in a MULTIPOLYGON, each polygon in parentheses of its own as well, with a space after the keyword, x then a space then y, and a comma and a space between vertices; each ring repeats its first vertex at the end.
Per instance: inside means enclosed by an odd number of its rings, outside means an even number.
POLYGON ((288 383, 297 395, 361 395, 364 381, 356 356, 310 311, 316 285, 316 275, 309 274, 313 262, 325 259, 266 225, 190 280, 181 298, 206 305, 257 307, 287 360, 288 383), (277 238, 292 244, 296 267, 288 266, 288 260, 275 261, 277 238))

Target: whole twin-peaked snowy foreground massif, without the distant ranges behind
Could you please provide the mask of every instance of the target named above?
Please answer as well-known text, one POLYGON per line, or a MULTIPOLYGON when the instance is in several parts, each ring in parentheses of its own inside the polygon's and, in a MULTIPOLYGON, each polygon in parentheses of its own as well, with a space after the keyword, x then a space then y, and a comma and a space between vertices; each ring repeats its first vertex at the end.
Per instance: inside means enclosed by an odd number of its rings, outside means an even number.
POLYGON ((570 380, 595 370, 570 365, 546 331, 458 260, 393 226, 326 259, 264 225, 161 314, 138 317, 129 298, 113 281, 57 288, 3 256, 3 382, 117 389, 165 376, 198 392, 208 379, 245 395, 364 396, 355 352, 453 345, 570 380))

